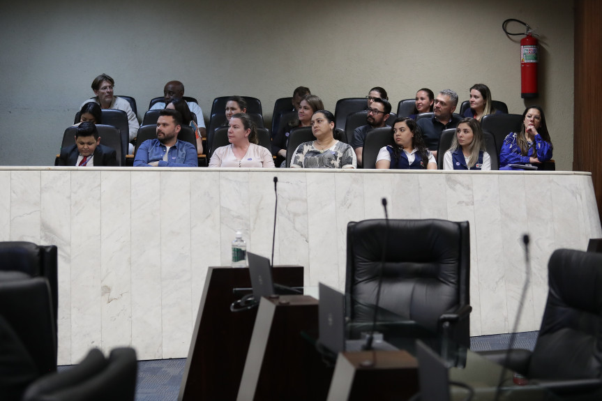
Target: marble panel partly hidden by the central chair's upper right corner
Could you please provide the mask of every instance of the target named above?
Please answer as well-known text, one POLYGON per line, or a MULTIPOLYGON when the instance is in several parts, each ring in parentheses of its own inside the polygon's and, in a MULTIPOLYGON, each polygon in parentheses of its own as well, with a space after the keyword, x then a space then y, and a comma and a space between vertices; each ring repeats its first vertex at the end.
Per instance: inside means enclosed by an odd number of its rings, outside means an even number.
POLYGON ((474 223, 474 198, 472 174, 446 175, 447 215, 452 221, 467 221, 470 235, 470 332, 480 335, 481 297, 479 294, 479 265, 476 257, 476 225, 474 223))

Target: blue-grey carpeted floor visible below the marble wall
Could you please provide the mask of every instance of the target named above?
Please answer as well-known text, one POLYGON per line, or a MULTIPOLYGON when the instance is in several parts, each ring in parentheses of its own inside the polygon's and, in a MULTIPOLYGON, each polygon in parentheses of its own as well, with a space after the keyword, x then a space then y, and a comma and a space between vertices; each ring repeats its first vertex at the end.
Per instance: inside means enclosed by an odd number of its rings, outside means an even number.
MULTIPOLYGON (((513 348, 534 349, 539 332, 517 333, 513 348)), ((472 351, 508 348, 510 334, 481 335, 470 339, 472 351)), ((136 401, 177 400, 186 359, 140 361, 136 384, 136 401)), ((67 367, 60 367, 59 370, 67 367)))

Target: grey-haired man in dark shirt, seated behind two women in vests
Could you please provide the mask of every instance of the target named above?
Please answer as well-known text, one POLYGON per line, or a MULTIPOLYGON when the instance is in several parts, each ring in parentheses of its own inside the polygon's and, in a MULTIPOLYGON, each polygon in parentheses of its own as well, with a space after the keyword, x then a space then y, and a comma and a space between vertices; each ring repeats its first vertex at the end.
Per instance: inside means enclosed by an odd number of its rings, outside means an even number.
POLYGON ((424 138, 424 143, 432 156, 437 158, 437 149, 439 149, 439 138, 443 130, 456 128, 460 122, 459 116, 454 116, 453 111, 458 105, 458 93, 451 89, 440 91, 435 98, 435 105, 432 107, 432 117, 430 119, 419 119, 416 121, 424 138))

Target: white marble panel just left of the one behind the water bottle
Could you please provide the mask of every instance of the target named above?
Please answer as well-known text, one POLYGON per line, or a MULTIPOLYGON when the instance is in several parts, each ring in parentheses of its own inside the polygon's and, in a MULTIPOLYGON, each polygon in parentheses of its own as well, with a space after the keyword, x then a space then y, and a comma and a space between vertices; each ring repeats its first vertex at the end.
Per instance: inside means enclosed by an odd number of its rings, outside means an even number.
POLYGON ((207 268, 221 266, 219 172, 190 174, 190 264, 193 321, 197 318, 207 268))

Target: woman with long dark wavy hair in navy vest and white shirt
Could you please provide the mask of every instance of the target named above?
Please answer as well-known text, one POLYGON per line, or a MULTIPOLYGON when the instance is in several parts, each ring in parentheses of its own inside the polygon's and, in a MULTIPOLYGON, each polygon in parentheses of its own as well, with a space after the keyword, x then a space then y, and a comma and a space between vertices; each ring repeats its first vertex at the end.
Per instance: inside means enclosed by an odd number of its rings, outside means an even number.
POLYGON ((384 146, 376 158, 377 169, 437 169, 437 161, 424 144, 422 131, 409 117, 393 123, 391 144, 384 146))

